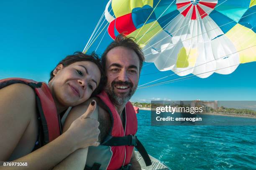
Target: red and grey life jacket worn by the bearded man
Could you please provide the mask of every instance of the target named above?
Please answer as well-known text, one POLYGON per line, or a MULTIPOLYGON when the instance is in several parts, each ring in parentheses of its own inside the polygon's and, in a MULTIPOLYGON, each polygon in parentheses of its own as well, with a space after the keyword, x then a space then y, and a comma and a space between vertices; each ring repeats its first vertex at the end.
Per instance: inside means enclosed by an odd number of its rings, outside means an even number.
POLYGON ((105 104, 106 108, 104 109, 108 110, 110 114, 112 126, 108 136, 100 146, 89 147, 86 169, 117 170, 127 167, 131 161, 134 146, 137 146, 138 141, 135 136, 138 122, 133 105, 131 102, 125 105, 125 112, 123 112, 125 114, 125 129, 123 129, 120 116, 106 92, 102 91, 97 97, 105 104))

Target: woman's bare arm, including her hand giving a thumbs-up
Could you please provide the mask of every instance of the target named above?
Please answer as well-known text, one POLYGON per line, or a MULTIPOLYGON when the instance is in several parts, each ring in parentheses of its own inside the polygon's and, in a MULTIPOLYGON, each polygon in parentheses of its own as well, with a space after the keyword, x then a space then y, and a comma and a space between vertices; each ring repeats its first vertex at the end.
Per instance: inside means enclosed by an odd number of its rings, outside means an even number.
MULTIPOLYGON (((36 114, 33 89, 24 84, 13 84, 0 89, 0 108, 0 161, 6 161, 31 122, 31 115, 36 114)), ((50 169, 75 150, 97 145, 95 142, 98 140, 99 123, 88 118, 87 114, 76 119, 54 141, 14 160, 13 162, 28 162, 28 167, 17 169, 50 169)), ((7 167, 1 166, 0 169, 7 167)))

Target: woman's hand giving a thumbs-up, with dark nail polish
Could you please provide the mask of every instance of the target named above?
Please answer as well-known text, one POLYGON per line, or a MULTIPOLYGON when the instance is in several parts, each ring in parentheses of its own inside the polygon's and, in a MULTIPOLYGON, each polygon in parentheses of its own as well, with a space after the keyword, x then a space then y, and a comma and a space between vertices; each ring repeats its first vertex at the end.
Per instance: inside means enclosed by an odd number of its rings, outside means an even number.
POLYGON ((77 149, 100 145, 98 137, 100 134, 99 122, 90 118, 96 108, 96 101, 92 100, 86 112, 72 122, 65 133, 75 142, 77 149))

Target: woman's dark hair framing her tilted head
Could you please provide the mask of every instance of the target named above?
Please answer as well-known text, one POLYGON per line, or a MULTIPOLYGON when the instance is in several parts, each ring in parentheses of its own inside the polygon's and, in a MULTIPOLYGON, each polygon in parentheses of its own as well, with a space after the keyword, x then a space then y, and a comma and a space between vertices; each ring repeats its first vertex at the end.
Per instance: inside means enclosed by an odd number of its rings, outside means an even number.
MULTIPOLYGON (((95 91, 93 91, 92 96, 99 94, 100 91, 102 91, 102 88, 105 84, 105 71, 103 71, 100 58, 98 57, 98 55, 95 52, 92 52, 90 55, 88 55, 88 54, 84 54, 82 52, 77 51, 74 53, 74 55, 69 55, 66 58, 64 58, 63 60, 61 60, 56 66, 59 66, 60 64, 62 64, 64 67, 67 67, 70 64, 78 62, 78 61, 90 61, 92 63, 95 63, 97 65, 97 67, 99 68, 100 83, 99 83, 99 86, 97 86, 97 88, 95 89, 95 91)), ((54 72, 54 70, 52 70, 50 73, 49 81, 51 81, 51 79, 54 78, 53 72, 54 72)))

